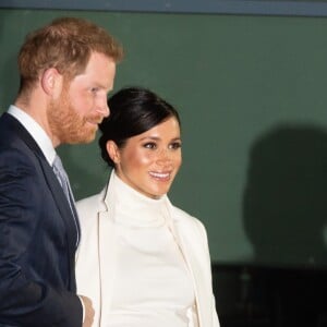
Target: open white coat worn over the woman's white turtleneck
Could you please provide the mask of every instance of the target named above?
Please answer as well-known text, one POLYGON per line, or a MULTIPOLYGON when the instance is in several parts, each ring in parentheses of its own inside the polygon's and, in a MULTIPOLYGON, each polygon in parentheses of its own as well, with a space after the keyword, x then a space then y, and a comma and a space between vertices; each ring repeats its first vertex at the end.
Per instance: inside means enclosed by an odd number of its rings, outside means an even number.
MULTIPOLYGON (((114 222, 110 215, 110 182, 94 196, 77 202, 82 239, 76 253, 77 293, 92 299, 95 327, 109 326, 101 311, 110 307, 116 256, 114 222)), ((211 287, 207 235, 199 220, 172 206, 170 229, 179 243, 191 271, 195 290, 199 327, 219 327, 211 287)))

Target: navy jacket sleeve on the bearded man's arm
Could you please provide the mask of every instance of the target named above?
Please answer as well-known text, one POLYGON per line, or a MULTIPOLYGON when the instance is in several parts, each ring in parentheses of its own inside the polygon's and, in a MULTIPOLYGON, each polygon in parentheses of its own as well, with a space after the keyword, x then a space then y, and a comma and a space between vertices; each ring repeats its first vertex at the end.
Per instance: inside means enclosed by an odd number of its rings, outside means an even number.
POLYGON ((34 164, 19 150, 1 150, 0 325, 80 327, 83 308, 78 296, 46 278, 46 274, 49 279, 59 275, 59 268, 47 266, 45 254, 51 256, 52 251, 55 255, 56 245, 64 243, 56 244, 56 228, 47 225, 44 214, 51 215, 51 209, 45 208, 45 184, 34 164), (38 274, 40 269, 47 271, 45 276, 38 274))

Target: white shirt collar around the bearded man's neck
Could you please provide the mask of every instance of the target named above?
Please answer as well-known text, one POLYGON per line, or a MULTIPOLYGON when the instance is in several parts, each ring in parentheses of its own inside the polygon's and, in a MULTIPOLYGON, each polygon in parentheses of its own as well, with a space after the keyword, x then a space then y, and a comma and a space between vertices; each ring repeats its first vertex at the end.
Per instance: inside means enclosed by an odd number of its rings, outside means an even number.
POLYGON ((8 113, 13 116, 27 130, 41 149, 49 165, 52 166, 56 150, 46 131, 28 113, 16 106, 10 106, 8 113))

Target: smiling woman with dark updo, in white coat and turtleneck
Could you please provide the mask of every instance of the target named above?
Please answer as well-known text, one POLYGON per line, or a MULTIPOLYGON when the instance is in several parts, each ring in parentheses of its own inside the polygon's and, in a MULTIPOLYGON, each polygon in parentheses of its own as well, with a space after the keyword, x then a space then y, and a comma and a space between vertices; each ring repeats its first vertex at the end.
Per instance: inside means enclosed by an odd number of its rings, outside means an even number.
POLYGON ((78 293, 100 327, 219 327, 202 222, 167 193, 182 164, 177 110, 148 89, 123 88, 100 124, 105 190, 77 203, 78 293))

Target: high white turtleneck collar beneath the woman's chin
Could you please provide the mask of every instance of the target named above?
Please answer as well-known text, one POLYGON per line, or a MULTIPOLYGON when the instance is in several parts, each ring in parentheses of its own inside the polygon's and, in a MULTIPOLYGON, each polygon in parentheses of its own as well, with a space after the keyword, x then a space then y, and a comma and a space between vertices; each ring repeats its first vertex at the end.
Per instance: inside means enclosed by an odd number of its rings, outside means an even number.
POLYGON ((119 223, 135 228, 159 227, 170 219, 167 195, 147 197, 123 182, 114 170, 110 175, 107 197, 111 217, 119 223))

